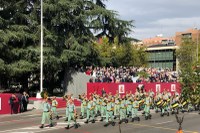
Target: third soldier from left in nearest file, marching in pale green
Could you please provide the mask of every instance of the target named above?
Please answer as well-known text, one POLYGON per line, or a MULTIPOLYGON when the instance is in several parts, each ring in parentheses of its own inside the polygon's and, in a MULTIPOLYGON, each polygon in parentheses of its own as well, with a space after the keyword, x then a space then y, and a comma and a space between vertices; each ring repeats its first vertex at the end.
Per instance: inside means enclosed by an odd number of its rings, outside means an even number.
POLYGON ((104 125, 105 127, 109 125, 109 118, 111 118, 112 126, 115 125, 113 110, 114 110, 114 98, 108 99, 107 107, 106 107, 106 124, 104 125))

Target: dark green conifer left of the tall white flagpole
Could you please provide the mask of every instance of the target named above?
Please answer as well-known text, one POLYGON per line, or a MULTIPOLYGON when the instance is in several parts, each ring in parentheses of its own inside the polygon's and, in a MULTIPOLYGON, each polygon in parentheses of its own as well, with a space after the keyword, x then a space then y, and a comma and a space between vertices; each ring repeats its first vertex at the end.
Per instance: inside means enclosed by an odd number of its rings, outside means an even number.
POLYGON ((3 81, 18 79, 24 87, 28 87, 29 73, 38 67, 39 51, 34 49, 38 47, 40 30, 37 19, 33 19, 33 3, 37 4, 34 0, 2 0, 0 10, 0 60, 4 66, 0 77, 3 81))

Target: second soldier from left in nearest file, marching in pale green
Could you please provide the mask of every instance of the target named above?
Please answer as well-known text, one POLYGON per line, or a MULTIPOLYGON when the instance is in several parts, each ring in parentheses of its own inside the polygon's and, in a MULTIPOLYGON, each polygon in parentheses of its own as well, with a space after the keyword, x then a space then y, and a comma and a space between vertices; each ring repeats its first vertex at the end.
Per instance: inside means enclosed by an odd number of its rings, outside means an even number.
POLYGON ((74 120, 74 128, 78 128, 78 124, 76 123, 76 107, 72 101, 72 99, 69 100, 69 104, 68 104, 68 121, 67 121, 67 127, 65 127, 66 129, 69 129, 69 125, 71 120, 74 120))

